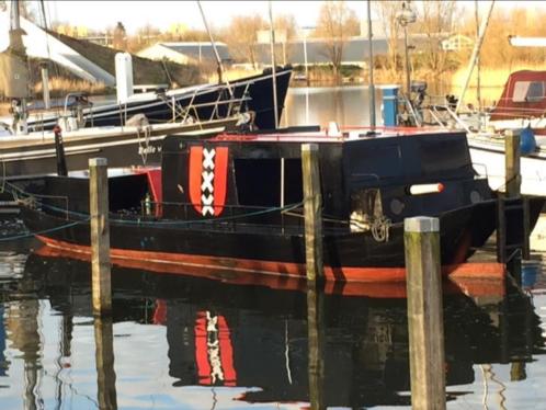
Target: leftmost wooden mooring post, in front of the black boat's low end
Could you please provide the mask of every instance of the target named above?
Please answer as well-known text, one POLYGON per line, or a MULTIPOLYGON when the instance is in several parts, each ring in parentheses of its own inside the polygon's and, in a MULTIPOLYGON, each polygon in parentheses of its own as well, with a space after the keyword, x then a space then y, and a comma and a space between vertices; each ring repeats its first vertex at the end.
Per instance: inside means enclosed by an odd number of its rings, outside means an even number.
POLYGON ((105 158, 89 160, 89 200, 93 315, 102 316, 112 311, 109 176, 105 158))

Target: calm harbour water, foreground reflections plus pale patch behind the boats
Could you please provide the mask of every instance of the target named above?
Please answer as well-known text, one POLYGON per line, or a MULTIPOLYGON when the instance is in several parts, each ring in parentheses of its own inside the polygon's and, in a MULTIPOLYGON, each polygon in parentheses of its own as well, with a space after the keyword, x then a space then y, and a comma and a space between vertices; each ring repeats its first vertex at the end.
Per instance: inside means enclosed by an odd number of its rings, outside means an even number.
MULTIPOLYGON (((293 89, 286 114, 365 125, 366 90, 293 89)), ((308 294, 114 267, 113 319, 96 321, 89 263, 1 241, 19 229, 0 219, 0 409, 304 409, 315 388, 329 408, 409 408, 403 287, 308 294)), ((546 269, 523 277, 446 288, 450 409, 546 402, 546 269)))

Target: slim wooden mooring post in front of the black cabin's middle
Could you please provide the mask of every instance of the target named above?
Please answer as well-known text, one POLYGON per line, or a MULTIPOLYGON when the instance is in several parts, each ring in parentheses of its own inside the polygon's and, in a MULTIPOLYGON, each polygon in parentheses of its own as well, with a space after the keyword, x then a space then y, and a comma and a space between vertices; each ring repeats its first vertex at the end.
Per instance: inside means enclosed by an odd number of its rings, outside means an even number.
POLYGON ((320 194, 319 156, 317 144, 302 145, 304 179, 305 255, 307 280, 323 276, 322 266, 322 195, 320 194))

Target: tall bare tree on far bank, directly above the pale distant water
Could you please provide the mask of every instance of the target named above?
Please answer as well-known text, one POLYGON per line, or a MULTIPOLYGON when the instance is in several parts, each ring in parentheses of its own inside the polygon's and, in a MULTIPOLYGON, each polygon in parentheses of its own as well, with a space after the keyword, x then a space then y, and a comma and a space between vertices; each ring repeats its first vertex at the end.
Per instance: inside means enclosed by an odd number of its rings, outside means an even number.
POLYGON ((339 80, 343 48, 346 39, 359 34, 359 20, 344 1, 326 1, 322 3, 317 21, 316 36, 326 42, 326 55, 333 66, 333 75, 339 80))

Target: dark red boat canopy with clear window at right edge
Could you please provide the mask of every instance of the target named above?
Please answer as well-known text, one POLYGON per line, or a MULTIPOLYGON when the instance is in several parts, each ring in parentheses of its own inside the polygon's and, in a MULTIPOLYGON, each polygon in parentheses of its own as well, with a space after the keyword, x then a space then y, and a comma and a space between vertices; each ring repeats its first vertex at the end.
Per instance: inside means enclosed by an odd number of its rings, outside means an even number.
POLYGON ((510 75, 491 121, 541 117, 546 113, 546 71, 522 70, 510 75))

